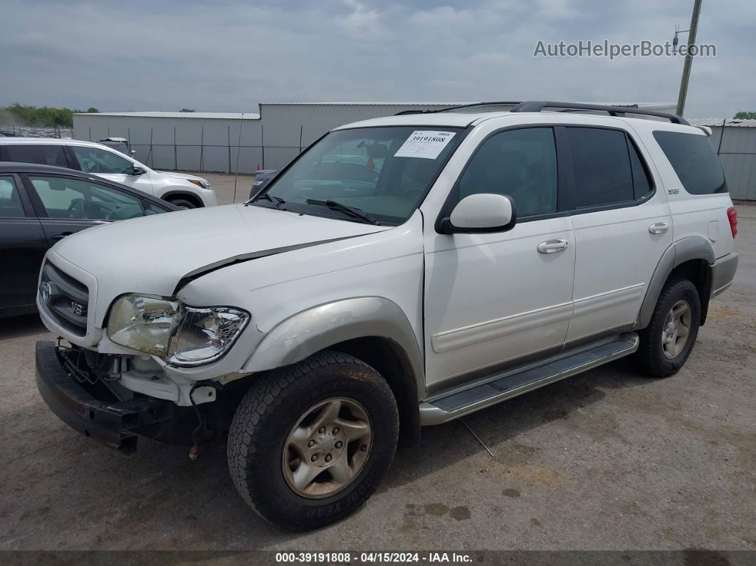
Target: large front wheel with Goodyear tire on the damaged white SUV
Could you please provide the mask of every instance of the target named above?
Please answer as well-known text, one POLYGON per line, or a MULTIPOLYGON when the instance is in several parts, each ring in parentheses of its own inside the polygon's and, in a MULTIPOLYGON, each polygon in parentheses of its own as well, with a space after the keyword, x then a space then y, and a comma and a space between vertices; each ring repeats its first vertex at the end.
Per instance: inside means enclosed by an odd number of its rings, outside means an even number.
POLYGON ((391 465, 398 429, 383 377, 355 357, 323 351, 247 391, 231 422, 228 467, 265 520, 290 530, 323 527, 370 498, 391 465))

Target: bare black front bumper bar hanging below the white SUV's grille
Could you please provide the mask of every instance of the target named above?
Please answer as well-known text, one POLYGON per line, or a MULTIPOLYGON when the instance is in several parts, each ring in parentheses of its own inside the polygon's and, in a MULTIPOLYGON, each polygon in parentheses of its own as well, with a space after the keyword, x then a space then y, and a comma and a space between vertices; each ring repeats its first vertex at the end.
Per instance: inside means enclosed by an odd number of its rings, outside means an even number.
POLYGON ((37 388, 52 412, 82 435, 130 455, 138 434, 150 435, 173 418, 175 406, 169 401, 151 397, 119 401, 103 384, 97 388, 96 383, 76 379, 60 356, 54 342, 37 342, 37 388))

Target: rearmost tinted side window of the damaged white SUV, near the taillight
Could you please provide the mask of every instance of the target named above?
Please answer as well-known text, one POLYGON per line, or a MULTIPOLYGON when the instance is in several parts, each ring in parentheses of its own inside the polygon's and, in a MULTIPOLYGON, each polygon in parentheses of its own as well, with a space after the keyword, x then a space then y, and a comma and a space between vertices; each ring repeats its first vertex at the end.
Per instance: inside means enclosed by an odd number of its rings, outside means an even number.
POLYGON ((727 193, 722 165, 708 136, 657 130, 654 138, 686 191, 691 194, 727 193))

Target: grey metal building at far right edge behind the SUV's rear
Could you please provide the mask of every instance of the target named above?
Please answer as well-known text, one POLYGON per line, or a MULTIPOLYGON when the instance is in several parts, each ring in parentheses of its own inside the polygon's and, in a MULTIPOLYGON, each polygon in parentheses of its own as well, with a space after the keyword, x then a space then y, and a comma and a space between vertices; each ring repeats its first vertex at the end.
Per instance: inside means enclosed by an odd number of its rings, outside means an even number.
POLYGON ((711 143, 722 162, 733 199, 756 200, 756 120, 692 119, 711 128, 711 143))

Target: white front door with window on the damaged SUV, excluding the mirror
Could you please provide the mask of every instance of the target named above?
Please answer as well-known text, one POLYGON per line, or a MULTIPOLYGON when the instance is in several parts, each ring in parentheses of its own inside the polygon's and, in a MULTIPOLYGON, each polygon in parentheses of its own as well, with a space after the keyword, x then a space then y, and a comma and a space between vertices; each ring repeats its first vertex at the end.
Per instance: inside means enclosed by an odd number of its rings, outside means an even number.
POLYGON ((528 354, 562 348, 572 314, 575 237, 557 202, 553 128, 500 131, 479 145, 454 184, 512 197, 517 222, 495 234, 435 232, 425 217, 425 335, 429 392, 528 354))

